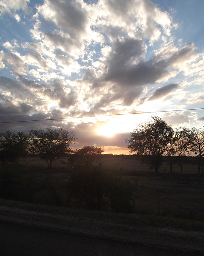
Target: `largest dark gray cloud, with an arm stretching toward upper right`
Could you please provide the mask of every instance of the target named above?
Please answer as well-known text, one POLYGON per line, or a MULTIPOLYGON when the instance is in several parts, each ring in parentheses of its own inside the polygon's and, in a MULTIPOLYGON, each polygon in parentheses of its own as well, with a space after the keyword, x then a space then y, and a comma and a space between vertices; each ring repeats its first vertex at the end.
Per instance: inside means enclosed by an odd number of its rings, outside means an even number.
POLYGON ((93 88, 105 86, 108 82, 128 87, 154 84, 169 75, 169 67, 179 68, 183 62, 194 58, 194 49, 194 44, 188 44, 180 50, 163 52, 144 61, 143 41, 130 38, 124 42, 117 41, 113 43, 112 52, 105 61, 108 71, 98 79, 93 78, 93 88))

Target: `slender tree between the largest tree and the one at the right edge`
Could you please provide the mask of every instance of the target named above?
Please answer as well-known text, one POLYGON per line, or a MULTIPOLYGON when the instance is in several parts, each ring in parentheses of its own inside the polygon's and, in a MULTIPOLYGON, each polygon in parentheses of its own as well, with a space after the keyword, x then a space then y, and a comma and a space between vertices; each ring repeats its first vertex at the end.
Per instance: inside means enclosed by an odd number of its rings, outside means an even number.
MULTIPOLYGON (((171 138, 167 147, 167 156, 169 160, 170 172, 173 172, 173 165, 179 161, 181 156, 185 156, 186 153, 192 150, 191 138, 188 136, 189 131, 185 127, 177 128, 174 136, 171 138)), ((182 164, 181 173, 182 173, 182 164)))

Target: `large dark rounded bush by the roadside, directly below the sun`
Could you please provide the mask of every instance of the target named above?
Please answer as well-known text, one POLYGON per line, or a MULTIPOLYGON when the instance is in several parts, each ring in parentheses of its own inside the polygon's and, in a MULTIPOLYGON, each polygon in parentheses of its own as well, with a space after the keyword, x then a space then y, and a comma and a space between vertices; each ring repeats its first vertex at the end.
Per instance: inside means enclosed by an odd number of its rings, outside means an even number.
POLYGON ((105 198, 112 212, 133 212, 133 185, 99 166, 80 166, 71 174, 70 196, 86 202, 89 210, 101 210, 105 198))

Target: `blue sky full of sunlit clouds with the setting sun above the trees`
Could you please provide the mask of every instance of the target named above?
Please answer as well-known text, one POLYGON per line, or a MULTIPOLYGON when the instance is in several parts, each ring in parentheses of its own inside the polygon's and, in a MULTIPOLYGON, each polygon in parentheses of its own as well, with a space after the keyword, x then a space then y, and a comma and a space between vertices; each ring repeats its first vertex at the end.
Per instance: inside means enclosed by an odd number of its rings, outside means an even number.
POLYGON ((203 0, 0 0, 0 132, 63 126, 77 148, 129 154, 126 139, 153 115, 202 128, 203 10, 203 0))

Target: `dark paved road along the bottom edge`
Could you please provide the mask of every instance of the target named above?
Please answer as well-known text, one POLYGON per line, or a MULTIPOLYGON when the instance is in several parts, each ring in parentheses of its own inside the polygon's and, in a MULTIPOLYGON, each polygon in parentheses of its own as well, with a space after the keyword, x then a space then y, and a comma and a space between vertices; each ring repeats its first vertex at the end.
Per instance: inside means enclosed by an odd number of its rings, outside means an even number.
POLYGON ((196 256, 0 221, 0 256, 196 256))

